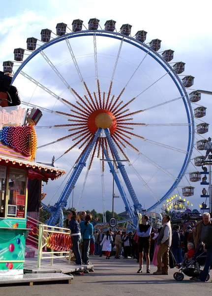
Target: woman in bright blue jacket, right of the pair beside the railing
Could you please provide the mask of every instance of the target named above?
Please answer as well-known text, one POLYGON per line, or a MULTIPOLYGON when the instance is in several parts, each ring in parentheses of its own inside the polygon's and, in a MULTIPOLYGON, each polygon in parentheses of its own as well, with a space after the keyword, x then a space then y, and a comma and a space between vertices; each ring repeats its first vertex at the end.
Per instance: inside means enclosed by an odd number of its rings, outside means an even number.
POLYGON ((80 222, 80 231, 82 235, 82 259, 84 264, 89 264, 89 249, 90 249, 90 239, 93 233, 93 225, 90 223, 92 216, 90 214, 86 215, 85 221, 80 222))

